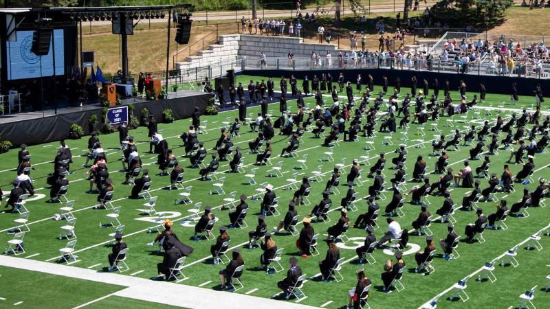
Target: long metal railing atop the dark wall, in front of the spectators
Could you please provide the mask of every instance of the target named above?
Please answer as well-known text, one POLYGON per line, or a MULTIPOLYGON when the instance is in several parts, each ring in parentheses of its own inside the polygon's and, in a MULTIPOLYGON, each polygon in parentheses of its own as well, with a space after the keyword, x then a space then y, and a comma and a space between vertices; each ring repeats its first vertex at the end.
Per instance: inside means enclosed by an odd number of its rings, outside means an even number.
MULTIPOLYGON (((517 63, 517 62, 516 62, 517 63)), ((492 66, 490 63, 479 61, 467 62, 443 61, 439 59, 414 59, 414 58, 390 58, 376 57, 373 54, 363 58, 320 58, 311 60, 309 58, 267 58, 265 61, 259 58, 243 59, 243 70, 247 69, 289 69, 296 71, 326 70, 326 69, 399 69, 408 71, 433 71, 443 73, 463 73, 487 76, 519 76, 524 78, 550 78, 550 62, 545 62, 537 67, 531 63, 518 64, 508 70, 499 65, 492 66)))

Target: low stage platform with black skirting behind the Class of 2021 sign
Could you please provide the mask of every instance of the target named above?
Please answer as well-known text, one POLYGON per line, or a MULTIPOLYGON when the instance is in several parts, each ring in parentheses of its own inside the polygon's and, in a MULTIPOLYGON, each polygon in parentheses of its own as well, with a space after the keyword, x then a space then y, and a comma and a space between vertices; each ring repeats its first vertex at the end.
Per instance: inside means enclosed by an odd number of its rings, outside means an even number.
MULTIPOLYGON (((164 100, 148 101, 144 98, 126 98, 122 106, 133 104, 133 115, 141 118, 142 108, 147 107, 158 122, 162 122, 162 111, 172 109, 174 118, 184 119, 191 116, 195 106, 202 112, 206 109, 211 93, 199 91, 177 91, 169 93, 164 100)), ((99 102, 83 104, 83 106, 58 107, 57 114, 53 108, 42 111, 24 112, 0 116, 0 136, 2 140, 11 141, 18 146, 19 141, 25 144, 41 144, 48 141, 69 138, 71 124, 80 124, 89 134, 88 119, 91 115, 98 115, 101 119, 103 106, 99 102)))

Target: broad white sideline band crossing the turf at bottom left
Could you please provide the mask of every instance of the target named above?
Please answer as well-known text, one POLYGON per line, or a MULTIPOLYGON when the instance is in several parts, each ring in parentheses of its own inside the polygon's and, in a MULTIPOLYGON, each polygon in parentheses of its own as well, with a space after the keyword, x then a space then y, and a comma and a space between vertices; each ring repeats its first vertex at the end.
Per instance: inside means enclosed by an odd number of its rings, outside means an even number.
MULTIPOLYGON (((0 265, 12 268, 25 269, 27 271, 38 271, 41 273, 50 273, 52 275, 61 275, 76 279, 91 280, 104 284, 115 284, 126 286, 111 295, 105 295, 94 301, 109 296, 129 297, 140 299, 142 301, 152 301, 156 303, 171 306, 181 306, 186 308, 220 308, 220 302, 223 301, 223 308, 242 309, 308 309, 315 308, 300 304, 294 304, 292 301, 276 301, 262 297, 254 297, 239 293, 222 292, 210 290, 208 288, 197 288, 195 286, 186 286, 184 284, 175 284, 165 281, 155 281, 129 275, 120 275, 118 273, 102 273, 91 269, 66 266, 62 264, 47 263, 23 258, 14 258, 11 256, 0 255, 0 265), (216 301, 217 300, 217 301, 216 301)), ((217 278, 214 278, 217 279, 217 278)), ((246 282, 244 282, 247 284, 246 282)), ((249 284, 252 284, 250 282, 249 284)), ((250 287, 250 286, 249 286, 250 287)), ((87 304, 93 304, 90 301, 87 304)), ((84 304, 84 305, 87 305, 84 304)), ((82 306, 82 305, 81 305, 82 306)), ((80 307, 80 306, 79 306, 80 307)))

